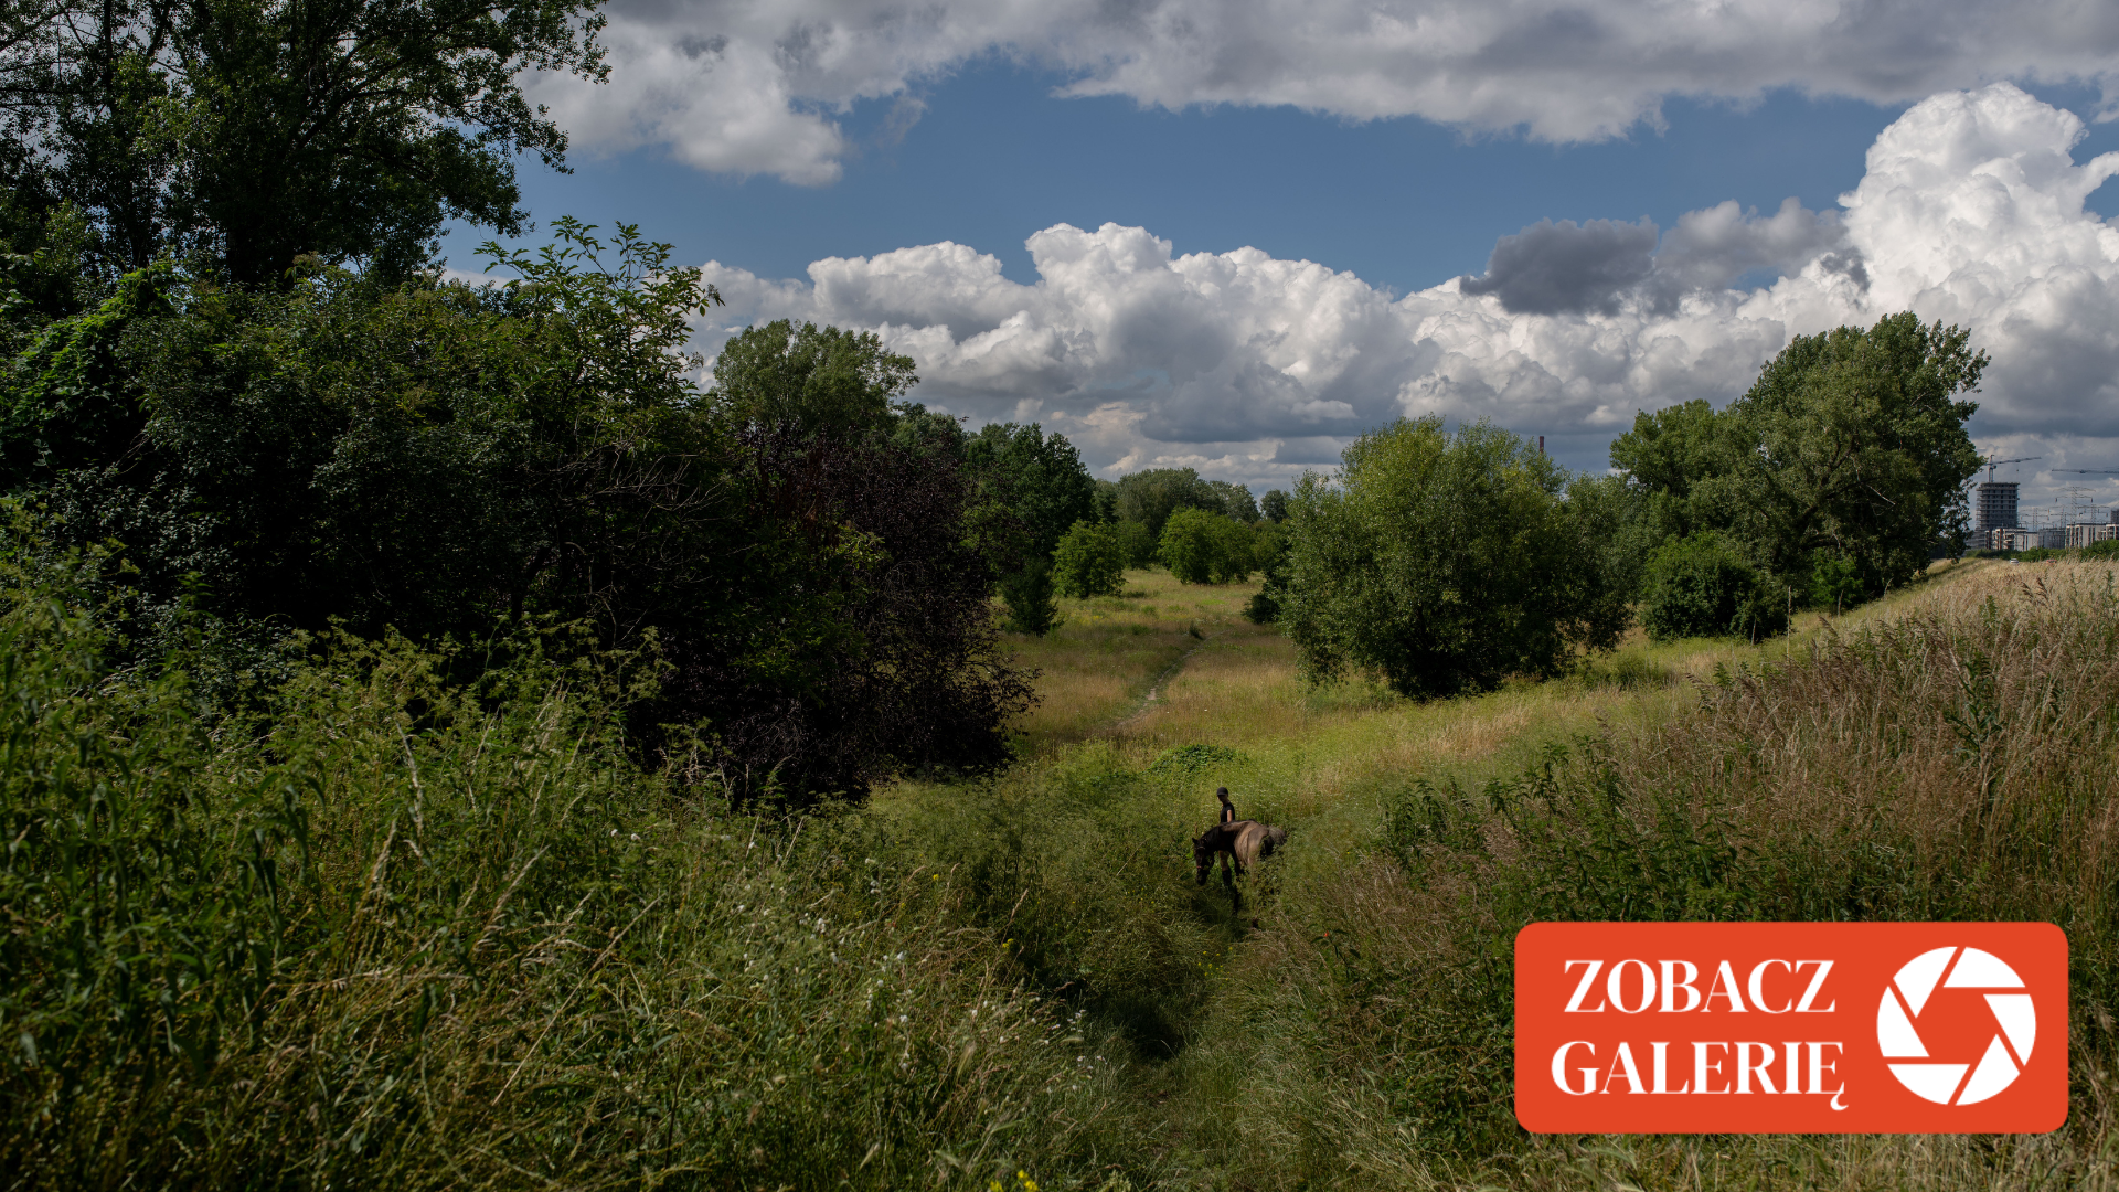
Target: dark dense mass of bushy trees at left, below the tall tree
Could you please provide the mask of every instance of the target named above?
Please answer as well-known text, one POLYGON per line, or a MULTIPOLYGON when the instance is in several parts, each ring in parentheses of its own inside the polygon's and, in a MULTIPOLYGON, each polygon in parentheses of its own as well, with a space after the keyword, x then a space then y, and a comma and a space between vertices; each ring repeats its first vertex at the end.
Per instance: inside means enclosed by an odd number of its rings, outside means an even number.
MULTIPOLYGON (((1004 764, 1030 691, 996 655, 977 477, 928 452, 934 426, 886 399, 822 431, 710 401, 682 350, 712 301, 697 271, 634 229, 559 231, 502 257, 509 286, 170 274, 108 369, 136 439, 40 492, 159 598, 199 575, 201 607, 244 624, 587 626, 653 660, 631 740, 740 800, 1004 764)), ((85 341, 93 318, 53 331, 85 341)))

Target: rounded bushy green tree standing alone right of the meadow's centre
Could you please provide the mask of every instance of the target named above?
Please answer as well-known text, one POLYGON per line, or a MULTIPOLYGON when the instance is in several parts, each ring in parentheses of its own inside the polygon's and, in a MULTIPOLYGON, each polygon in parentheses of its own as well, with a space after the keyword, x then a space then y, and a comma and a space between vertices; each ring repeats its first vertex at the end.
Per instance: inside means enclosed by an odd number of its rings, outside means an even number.
POLYGON ((1564 484, 1483 422, 1452 435, 1430 416, 1356 439, 1337 486, 1305 475, 1290 501, 1280 621, 1303 668, 1449 696, 1613 645, 1623 613, 1564 484))

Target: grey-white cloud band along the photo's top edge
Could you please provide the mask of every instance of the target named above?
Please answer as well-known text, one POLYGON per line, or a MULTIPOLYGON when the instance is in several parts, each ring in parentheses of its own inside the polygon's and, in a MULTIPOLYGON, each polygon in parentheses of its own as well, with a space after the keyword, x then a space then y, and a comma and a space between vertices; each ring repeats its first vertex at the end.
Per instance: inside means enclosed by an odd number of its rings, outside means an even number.
POLYGON ((1774 87, 1905 102, 1994 78, 2077 78, 2119 100, 2119 8, 2079 0, 615 0, 612 81, 536 76, 583 148, 667 146, 701 170, 839 176, 839 117, 1011 55, 1068 95, 1424 117, 1596 140, 1666 95, 1774 87))

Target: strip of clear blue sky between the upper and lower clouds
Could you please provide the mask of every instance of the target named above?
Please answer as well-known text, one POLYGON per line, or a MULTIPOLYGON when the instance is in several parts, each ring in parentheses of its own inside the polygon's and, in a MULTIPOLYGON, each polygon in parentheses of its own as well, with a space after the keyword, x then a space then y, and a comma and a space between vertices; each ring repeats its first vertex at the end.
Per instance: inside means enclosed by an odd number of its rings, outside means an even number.
MULTIPOLYGON (((1148 227, 1178 252, 1254 246, 1352 269, 1399 293, 1485 269, 1494 240, 1541 218, 1655 218, 1788 195, 1829 208, 1863 176, 1863 155, 1905 104, 1805 98, 1666 102, 1666 127, 1591 144, 1466 134, 1418 117, 1348 121, 1293 108, 1142 108, 1117 95, 1055 98, 1053 72, 983 62, 920 89, 924 112, 892 129, 898 100, 841 117, 858 146, 845 176, 805 187, 708 174, 661 146, 576 144, 572 174, 530 161, 523 201, 612 225, 761 276, 799 278, 820 257, 867 257, 954 240, 1034 282, 1023 240, 1055 223, 1148 227), (896 136, 892 136, 896 132, 896 136)), ((2032 93, 2089 110, 2094 91, 2032 93)), ((2077 157, 2119 148, 2119 123, 2089 125, 2077 157)), ((2094 208, 2119 212, 2119 187, 2094 208)), ((477 267, 477 229, 445 242, 477 267)))

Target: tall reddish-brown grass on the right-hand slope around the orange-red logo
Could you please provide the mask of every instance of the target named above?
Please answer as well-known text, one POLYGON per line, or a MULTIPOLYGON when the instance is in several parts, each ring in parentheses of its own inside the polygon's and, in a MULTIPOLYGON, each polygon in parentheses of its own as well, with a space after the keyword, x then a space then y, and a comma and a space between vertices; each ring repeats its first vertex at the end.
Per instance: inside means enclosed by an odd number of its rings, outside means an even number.
POLYGON ((1481 789, 1382 791, 1367 861, 1282 895, 1187 1056, 1257 1188, 2108 1186, 2119 594, 2005 568, 1721 670, 1481 789), (1541 918, 2000 918, 2068 931, 2072 1105, 2049 1139, 1530 1139, 1513 933, 1541 918), (1702 1167, 1704 1164, 1704 1167, 1702 1167), (1704 1171, 1710 1171, 1704 1175, 1704 1171))

